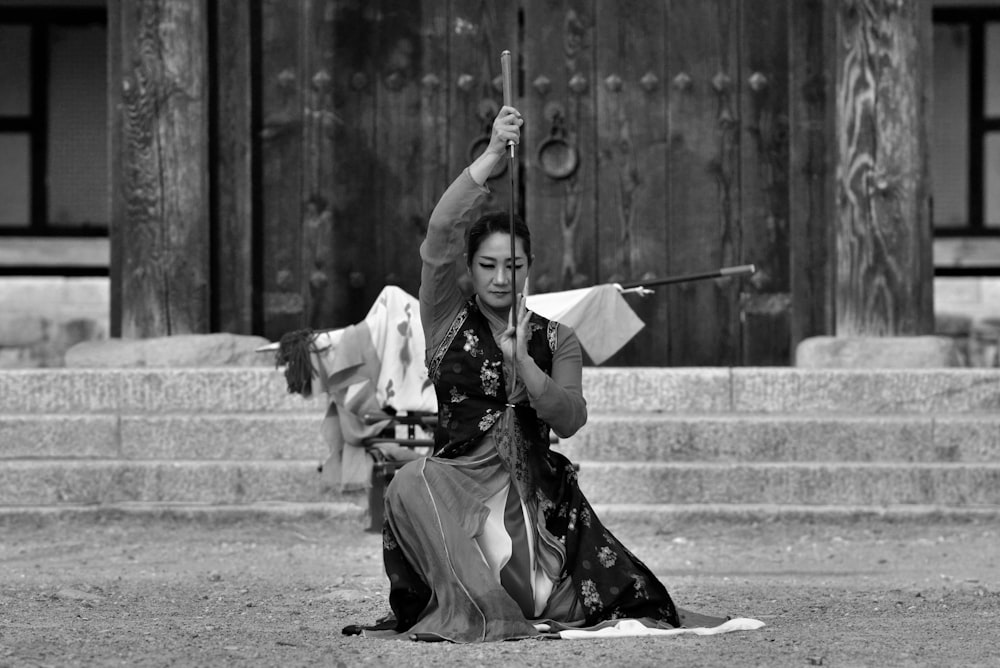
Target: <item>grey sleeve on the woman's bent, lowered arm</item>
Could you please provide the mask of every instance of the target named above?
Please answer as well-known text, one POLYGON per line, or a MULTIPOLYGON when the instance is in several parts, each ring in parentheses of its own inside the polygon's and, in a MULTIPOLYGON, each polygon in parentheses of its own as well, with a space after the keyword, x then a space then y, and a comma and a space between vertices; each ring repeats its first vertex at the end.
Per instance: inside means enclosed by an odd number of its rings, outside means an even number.
POLYGON ((568 438, 587 423, 587 400, 583 397, 583 351, 576 332, 560 324, 552 355, 552 374, 541 388, 528 390, 528 400, 538 417, 559 438, 568 438))

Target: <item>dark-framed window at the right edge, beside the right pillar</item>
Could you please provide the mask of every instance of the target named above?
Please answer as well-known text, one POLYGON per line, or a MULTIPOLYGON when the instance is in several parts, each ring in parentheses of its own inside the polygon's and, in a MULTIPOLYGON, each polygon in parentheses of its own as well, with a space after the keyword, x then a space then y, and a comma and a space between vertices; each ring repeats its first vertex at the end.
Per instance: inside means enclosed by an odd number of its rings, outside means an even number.
POLYGON ((934 10, 933 77, 931 166, 937 273, 997 274, 1000 7, 934 10))

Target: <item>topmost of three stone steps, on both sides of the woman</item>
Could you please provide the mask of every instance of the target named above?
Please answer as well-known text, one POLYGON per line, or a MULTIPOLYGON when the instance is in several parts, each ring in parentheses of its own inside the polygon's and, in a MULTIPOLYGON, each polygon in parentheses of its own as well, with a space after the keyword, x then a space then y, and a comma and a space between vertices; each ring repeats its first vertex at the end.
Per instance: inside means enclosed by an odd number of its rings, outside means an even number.
MULTIPOLYGON (((1000 411, 1000 369, 584 369, 592 413, 928 414, 1000 411)), ((0 371, 5 413, 322 412, 280 370, 0 371)))

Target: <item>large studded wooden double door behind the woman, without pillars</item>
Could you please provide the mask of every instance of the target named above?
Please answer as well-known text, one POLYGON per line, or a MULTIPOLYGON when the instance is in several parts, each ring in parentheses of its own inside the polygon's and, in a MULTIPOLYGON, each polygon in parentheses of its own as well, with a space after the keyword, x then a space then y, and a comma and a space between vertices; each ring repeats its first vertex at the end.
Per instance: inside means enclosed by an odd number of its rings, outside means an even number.
MULTIPOLYGON (((608 365, 790 356, 785 0, 265 0, 265 334, 416 294, 416 249, 502 101, 525 115, 514 201, 537 291, 754 263, 753 279, 629 297, 644 330, 608 365)), ((510 174, 484 209, 510 206, 510 174)))

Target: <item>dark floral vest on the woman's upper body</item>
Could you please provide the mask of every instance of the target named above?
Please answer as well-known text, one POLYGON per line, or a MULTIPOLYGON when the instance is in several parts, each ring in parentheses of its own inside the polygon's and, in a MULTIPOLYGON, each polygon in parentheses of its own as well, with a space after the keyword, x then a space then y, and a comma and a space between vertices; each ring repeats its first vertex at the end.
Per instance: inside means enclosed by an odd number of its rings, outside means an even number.
MULTIPOLYGON (((532 313, 528 354, 546 374, 558 323, 532 313)), ((456 457, 468 452, 508 407, 503 353, 493 340, 490 323, 470 299, 455 316, 441 345, 427 360, 438 403, 435 454, 456 457)), ((515 406, 518 423, 533 444, 548 449, 549 426, 527 400, 515 406)))

